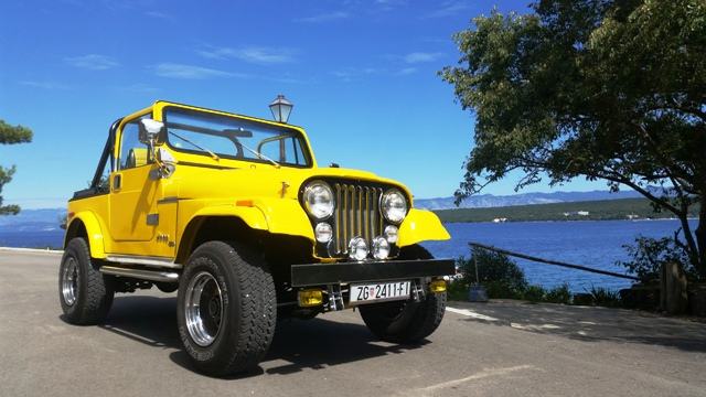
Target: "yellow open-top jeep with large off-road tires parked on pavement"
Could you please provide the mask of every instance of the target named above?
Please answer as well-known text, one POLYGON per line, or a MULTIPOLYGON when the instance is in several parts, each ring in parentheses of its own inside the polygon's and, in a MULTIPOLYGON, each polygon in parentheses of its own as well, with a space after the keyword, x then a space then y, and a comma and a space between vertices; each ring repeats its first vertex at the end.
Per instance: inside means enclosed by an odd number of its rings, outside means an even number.
POLYGON ((299 127, 157 101, 113 124, 69 200, 58 296, 95 324, 115 292, 178 290, 184 348, 225 375, 257 366, 284 316, 359 308, 383 340, 428 336, 454 269, 418 244, 448 238, 403 184, 318 167, 299 127))

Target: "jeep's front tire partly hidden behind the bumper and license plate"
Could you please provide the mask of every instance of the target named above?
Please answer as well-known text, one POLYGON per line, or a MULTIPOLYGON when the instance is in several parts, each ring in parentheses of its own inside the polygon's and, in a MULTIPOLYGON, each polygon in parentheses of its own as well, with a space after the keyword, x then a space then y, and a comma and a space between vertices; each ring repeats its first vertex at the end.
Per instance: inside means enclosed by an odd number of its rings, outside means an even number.
MULTIPOLYGON (((399 259, 432 259, 424 247, 402 248, 399 259)), ((422 302, 411 300, 364 304, 360 307, 363 322, 383 341, 418 343, 429 336, 441 323, 446 311, 446 292, 426 293, 422 302)))

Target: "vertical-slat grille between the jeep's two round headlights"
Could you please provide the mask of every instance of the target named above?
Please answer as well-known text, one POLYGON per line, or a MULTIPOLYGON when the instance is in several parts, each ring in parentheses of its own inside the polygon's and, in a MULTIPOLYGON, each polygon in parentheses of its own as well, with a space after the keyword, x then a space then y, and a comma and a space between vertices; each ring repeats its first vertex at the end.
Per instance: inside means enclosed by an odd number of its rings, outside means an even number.
POLYGON ((347 254, 349 242, 357 236, 363 237, 370 247, 373 238, 383 234, 378 207, 383 189, 335 183, 333 194, 335 254, 347 254))

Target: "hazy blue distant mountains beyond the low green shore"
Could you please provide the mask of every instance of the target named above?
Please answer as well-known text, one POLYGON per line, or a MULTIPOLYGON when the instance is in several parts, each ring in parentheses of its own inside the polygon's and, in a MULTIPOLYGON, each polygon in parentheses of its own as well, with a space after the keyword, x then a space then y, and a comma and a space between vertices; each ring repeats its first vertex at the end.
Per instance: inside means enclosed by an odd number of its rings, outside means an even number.
MULTIPOLYGON (((601 201, 614 198, 642 197, 635 191, 621 191, 611 193, 609 191, 590 192, 553 192, 553 193, 521 193, 513 195, 480 194, 466 198, 459 208, 486 208, 513 205, 570 203, 582 201, 601 201)), ((450 210, 457 208, 453 197, 418 198, 415 206, 426 210, 450 210)))

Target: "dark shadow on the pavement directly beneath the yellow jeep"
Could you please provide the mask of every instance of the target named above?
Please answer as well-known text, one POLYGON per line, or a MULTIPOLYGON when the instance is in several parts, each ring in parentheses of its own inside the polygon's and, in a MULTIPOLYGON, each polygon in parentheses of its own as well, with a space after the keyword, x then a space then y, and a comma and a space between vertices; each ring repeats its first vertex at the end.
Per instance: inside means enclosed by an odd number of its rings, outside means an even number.
MULTIPOLYGON (((365 325, 331 321, 325 316, 279 321, 272 344, 263 361, 263 366, 267 369, 260 368, 231 379, 263 373, 286 375, 304 368, 320 369, 387 354, 400 354, 424 344, 400 346, 379 342, 365 325)), ((116 297, 108 319, 100 328, 150 347, 176 348, 178 352, 170 354, 172 362, 197 372, 179 339, 175 297, 116 297)))

